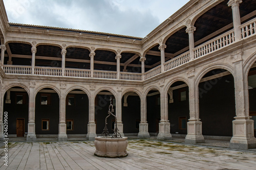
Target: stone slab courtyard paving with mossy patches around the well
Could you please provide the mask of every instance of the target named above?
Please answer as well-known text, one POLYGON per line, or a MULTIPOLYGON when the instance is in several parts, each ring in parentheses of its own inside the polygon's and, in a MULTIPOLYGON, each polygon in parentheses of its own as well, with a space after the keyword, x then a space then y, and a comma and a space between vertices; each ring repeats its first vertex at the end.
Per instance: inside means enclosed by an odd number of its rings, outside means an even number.
POLYGON ((0 169, 256 169, 256 151, 130 139, 125 158, 94 156, 93 141, 10 142, 0 169))

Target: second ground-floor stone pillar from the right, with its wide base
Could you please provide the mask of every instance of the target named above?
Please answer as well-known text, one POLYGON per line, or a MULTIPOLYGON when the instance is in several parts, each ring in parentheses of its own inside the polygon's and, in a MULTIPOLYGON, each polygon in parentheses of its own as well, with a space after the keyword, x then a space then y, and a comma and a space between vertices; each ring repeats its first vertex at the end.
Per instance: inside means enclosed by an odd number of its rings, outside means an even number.
POLYGON ((189 88, 189 119, 185 143, 204 143, 202 122, 199 118, 199 90, 195 86, 194 69, 187 71, 189 88))

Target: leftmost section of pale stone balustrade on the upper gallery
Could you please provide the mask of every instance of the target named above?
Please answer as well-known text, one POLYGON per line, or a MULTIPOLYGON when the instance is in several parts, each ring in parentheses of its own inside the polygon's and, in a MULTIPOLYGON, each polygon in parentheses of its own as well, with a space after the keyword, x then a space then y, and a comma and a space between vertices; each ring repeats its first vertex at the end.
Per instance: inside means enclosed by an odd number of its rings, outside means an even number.
POLYGON ((6 74, 30 75, 31 66, 24 65, 4 65, 3 69, 6 74))

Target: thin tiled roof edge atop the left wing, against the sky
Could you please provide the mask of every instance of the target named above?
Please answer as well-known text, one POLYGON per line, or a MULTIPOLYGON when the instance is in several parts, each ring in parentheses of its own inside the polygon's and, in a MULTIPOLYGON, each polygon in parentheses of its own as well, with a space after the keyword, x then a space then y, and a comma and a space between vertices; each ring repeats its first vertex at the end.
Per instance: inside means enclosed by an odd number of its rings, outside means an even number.
POLYGON ((49 27, 49 26, 38 26, 38 25, 30 25, 30 24, 24 24, 24 23, 12 23, 12 22, 9 22, 9 24, 10 24, 10 26, 20 26, 20 27, 30 27, 30 28, 44 28, 44 29, 62 30, 62 31, 74 31, 74 32, 79 32, 79 33, 99 34, 99 35, 107 35, 107 36, 114 36, 114 37, 139 39, 139 40, 143 39, 141 37, 133 37, 133 36, 127 36, 127 35, 120 35, 120 34, 111 34, 111 33, 102 33, 102 32, 96 32, 96 31, 67 29, 67 28, 49 27))

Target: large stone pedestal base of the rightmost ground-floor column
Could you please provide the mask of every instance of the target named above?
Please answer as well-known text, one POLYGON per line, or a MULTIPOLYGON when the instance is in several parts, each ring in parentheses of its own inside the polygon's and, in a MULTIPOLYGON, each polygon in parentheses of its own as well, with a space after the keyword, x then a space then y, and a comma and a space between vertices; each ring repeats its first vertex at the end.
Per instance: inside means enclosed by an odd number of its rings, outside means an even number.
POLYGON ((230 140, 231 149, 247 150, 256 148, 256 138, 254 137, 253 120, 248 117, 234 117, 233 137, 230 140))

